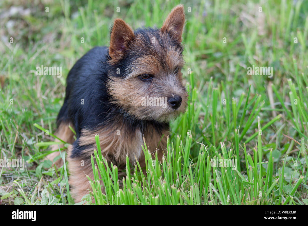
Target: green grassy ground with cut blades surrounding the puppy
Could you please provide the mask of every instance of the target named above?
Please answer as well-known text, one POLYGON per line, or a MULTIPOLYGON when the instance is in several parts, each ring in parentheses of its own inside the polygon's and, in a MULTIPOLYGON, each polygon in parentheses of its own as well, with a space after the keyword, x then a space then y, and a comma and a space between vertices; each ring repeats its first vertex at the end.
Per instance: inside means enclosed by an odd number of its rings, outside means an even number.
POLYGON ((130 166, 118 181, 117 168, 104 171, 95 155, 106 187, 102 194, 91 182, 96 203, 308 204, 307 1, 37 2, 0 2, 0 159, 26 161, 24 170, 0 168, 0 204, 74 203, 65 165, 43 160, 68 71, 108 45, 113 18, 160 27, 178 3, 187 18, 187 113, 171 123, 161 164, 145 150, 147 175, 130 166), (36 75, 40 65, 61 66, 63 76, 36 75), (272 76, 248 74, 253 65, 272 67, 272 76))

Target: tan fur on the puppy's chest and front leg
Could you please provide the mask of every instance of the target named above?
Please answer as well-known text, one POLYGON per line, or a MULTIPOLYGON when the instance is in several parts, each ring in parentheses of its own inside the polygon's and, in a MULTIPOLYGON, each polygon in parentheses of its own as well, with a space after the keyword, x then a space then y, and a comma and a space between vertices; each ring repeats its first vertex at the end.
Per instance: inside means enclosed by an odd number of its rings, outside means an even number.
POLYGON ((91 148, 83 151, 80 157, 71 158, 71 147, 68 152, 69 172, 71 176, 69 178, 69 184, 72 186, 71 194, 76 200, 80 199, 88 193, 90 184, 88 182, 88 175, 92 180, 94 178, 92 172, 92 166, 90 161, 91 154, 93 155, 93 149, 96 149, 95 134, 99 134, 99 141, 101 145, 101 151, 103 157, 107 158, 107 161, 117 162, 124 165, 126 162, 126 155, 129 160, 135 162, 135 156, 140 161, 140 166, 145 167, 144 153, 142 150, 143 137, 147 144, 148 150, 152 153, 152 158, 155 159, 155 151, 157 148, 158 160, 161 161, 164 151, 166 149, 166 139, 168 131, 164 131, 163 134, 157 133, 155 128, 147 128, 145 134, 141 134, 140 130, 136 130, 131 140, 127 139, 130 136, 127 129, 120 126, 115 126, 112 129, 102 129, 95 131, 94 133, 84 130, 82 136, 80 136, 80 142, 83 145, 91 145, 91 148), (116 128, 119 128, 120 134, 116 128))

